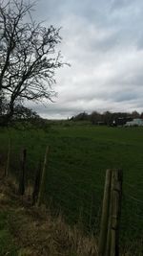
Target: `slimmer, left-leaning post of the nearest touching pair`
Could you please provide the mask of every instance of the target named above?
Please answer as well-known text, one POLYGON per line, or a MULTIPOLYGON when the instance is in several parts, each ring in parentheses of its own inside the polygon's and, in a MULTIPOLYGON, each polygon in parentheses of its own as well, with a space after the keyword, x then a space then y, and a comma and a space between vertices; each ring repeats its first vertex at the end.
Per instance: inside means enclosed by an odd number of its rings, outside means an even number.
POLYGON ((99 235, 99 256, 105 256, 111 200, 112 170, 107 170, 99 235))

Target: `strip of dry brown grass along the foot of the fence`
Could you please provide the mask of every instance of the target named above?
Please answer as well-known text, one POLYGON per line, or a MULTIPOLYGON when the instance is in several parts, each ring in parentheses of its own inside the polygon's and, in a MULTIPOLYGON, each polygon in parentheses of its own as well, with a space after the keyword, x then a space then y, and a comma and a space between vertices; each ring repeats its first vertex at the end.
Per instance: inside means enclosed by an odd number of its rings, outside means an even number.
POLYGON ((10 236, 18 256, 96 256, 95 238, 88 238, 49 210, 32 207, 26 197, 16 195, 15 184, 1 180, 0 206, 8 211, 10 236))

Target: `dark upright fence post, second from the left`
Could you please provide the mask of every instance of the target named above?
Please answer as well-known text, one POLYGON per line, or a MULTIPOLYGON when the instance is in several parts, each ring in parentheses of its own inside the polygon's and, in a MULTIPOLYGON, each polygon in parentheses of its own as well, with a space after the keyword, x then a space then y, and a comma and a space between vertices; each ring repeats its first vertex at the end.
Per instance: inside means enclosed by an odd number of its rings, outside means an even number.
POLYGON ((24 149, 22 151, 21 169, 20 169, 20 176, 19 176, 19 194, 21 196, 25 194, 26 157, 27 157, 27 150, 24 149))

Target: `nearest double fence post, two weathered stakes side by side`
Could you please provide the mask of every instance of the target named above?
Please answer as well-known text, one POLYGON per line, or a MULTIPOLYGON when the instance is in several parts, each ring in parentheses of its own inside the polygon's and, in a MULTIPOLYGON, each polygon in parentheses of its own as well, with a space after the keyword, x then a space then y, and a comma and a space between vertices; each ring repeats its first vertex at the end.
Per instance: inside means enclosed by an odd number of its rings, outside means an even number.
POLYGON ((119 255, 122 180, 122 170, 107 170, 99 236, 99 256, 119 255))

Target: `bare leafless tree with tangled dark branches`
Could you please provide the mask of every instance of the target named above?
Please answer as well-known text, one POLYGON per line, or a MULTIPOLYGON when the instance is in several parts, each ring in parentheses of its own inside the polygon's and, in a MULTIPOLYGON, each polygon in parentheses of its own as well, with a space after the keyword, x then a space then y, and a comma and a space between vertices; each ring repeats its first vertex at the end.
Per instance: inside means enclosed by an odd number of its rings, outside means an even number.
POLYGON ((54 72, 63 65, 56 52, 60 29, 33 21, 32 8, 25 0, 0 0, 0 98, 8 103, 7 122, 16 104, 51 100, 54 72))

